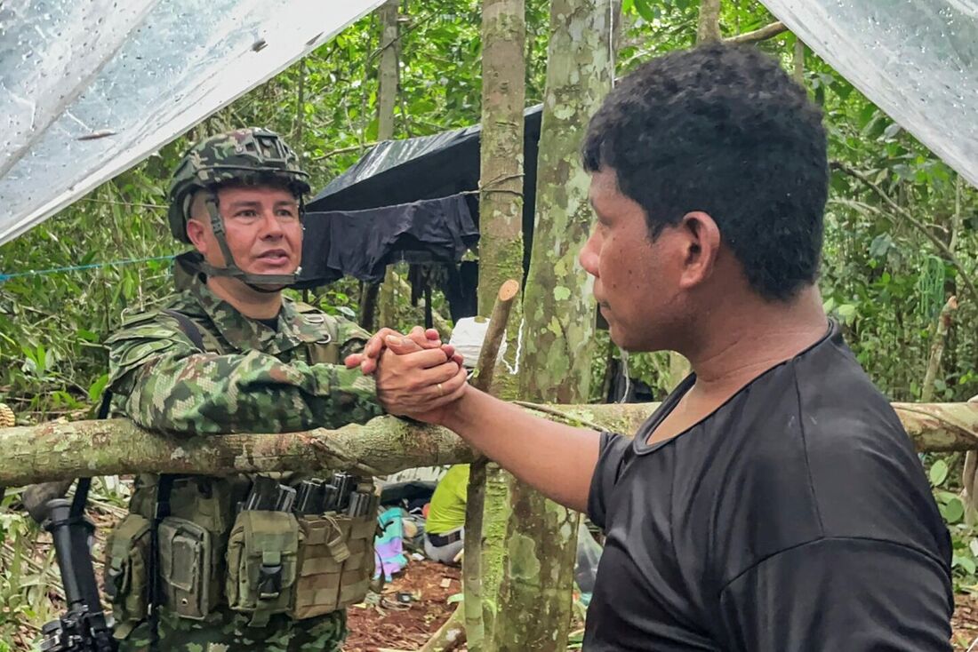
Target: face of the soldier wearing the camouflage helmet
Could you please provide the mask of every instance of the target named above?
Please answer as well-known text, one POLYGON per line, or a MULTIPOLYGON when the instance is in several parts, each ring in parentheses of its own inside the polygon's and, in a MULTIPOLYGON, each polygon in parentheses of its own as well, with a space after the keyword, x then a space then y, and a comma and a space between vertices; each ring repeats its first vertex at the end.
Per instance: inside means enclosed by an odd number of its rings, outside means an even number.
MULTIPOLYGON (((211 230, 205 198, 205 193, 194 197, 187 235, 208 263, 223 268, 227 261, 211 230)), ((266 186, 222 188, 217 206, 228 248, 244 272, 291 274, 298 269, 302 224, 298 202, 289 191, 266 186)))

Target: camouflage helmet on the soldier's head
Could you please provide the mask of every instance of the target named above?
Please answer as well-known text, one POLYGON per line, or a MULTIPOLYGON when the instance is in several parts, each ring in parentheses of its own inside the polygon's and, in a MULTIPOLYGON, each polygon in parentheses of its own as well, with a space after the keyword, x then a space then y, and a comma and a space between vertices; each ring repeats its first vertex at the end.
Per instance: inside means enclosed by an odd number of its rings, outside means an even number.
POLYGON ((187 220, 194 193, 237 181, 257 184, 277 180, 295 196, 309 192, 309 175, 299 168, 299 158, 279 135, 261 127, 249 127, 211 136, 184 154, 173 172, 169 192, 169 223, 173 237, 190 242, 187 220))

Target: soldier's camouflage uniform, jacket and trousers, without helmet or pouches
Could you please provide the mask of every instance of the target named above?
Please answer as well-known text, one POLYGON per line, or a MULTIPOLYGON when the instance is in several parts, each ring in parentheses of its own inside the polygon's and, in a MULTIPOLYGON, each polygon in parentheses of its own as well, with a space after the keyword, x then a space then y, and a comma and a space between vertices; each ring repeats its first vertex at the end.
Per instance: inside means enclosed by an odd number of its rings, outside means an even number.
MULTIPOLYGON (((276 332, 245 318, 200 280, 167 308, 198 326, 206 353, 161 313, 127 319, 109 340, 116 411, 145 428, 175 434, 289 432, 364 422, 381 413, 373 379, 358 369, 307 359, 305 343, 324 338, 327 320, 336 326, 341 356, 363 347, 369 334, 359 326, 319 312, 300 313, 285 299, 276 332)), ((137 479, 134 511, 149 512, 155 484, 155 476, 137 479)), ((328 651, 338 649, 345 620, 343 611, 302 621, 280 615, 255 629, 247 627, 247 615, 226 608, 199 623, 168 615, 164 607, 160 649, 328 651)), ((143 624, 126 635, 120 649, 145 650, 148 644, 143 624)))

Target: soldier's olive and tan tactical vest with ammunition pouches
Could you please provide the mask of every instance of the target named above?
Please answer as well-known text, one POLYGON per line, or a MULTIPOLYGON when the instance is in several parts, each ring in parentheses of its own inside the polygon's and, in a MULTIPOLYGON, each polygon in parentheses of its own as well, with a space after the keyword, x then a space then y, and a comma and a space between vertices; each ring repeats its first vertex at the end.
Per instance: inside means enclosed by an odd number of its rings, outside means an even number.
MULTIPOLYGON (((296 308, 327 329, 323 339, 305 342, 309 363, 338 364, 332 320, 311 306, 296 308)), ((212 348, 190 318, 164 312, 197 348, 212 348)), ((260 477, 139 476, 130 513, 107 543, 105 587, 116 637, 125 638, 148 614, 152 621, 154 604, 198 621, 229 608, 262 627, 273 614, 314 618, 363 600, 375 570, 378 499, 371 479, 353 483, 347 500, 296 513, 253 500, 252 490, 281 483, 288 497, 289 484, 308 489, 317 482, 260 477)))

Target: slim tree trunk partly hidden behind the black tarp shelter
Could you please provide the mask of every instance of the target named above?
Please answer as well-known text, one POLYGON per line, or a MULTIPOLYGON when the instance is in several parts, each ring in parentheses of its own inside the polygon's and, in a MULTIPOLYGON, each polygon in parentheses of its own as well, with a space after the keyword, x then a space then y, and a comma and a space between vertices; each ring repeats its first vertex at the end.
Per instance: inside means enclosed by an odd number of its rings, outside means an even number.
MULTIPOLYGON (((394 105, 397 103, 397 8, 400 0, 387 0, 377 10, 380 22, 380 68, 378 74, 378 142, 394 137, 394 105)), ((380 326, 394 324, 394 268, 387 265, 378 296, 380 326)))

